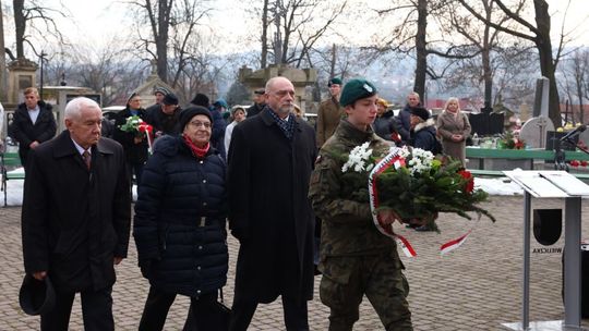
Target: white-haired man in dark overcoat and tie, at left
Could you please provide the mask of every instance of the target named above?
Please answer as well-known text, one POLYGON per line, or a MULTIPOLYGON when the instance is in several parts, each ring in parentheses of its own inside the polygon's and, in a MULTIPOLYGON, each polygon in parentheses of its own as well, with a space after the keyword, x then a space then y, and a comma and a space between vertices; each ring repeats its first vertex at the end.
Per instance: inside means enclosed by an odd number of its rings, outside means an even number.
POLYGON ((113 330, 115 265, 127 257, 131 196, 121 145, 100 137, 101 111, 88 98, 65 106, 65 127, 31 154, 24 187, 25 272, 49 277, 53 309, 41 330, 68 330, 75 293, 85 330, 113 330))

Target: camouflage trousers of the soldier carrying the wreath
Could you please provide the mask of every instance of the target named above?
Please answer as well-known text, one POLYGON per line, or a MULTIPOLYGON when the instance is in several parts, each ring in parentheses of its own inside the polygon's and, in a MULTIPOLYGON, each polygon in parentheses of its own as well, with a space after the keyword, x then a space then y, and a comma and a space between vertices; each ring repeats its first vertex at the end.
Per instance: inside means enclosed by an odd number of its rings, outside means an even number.
POLYGON ((365 295, 387 331, 410 331, 402 265, 390 255, 327 257, 320 266, 321 302, 329 307, 329 331, 352 330, 365 295))

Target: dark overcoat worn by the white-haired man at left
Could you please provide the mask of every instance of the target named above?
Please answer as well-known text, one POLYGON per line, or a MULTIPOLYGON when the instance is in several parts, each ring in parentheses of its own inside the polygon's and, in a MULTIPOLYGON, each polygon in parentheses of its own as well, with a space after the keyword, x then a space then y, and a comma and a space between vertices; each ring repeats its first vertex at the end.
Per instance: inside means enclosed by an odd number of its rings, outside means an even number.
POLYGON ((115 283, 113 257, 127 257, 131 196, 120 144, 101 138, 88 170, 70 133, 31 154, 22 214, 25 271, 48 271, 63 291, 115 283))

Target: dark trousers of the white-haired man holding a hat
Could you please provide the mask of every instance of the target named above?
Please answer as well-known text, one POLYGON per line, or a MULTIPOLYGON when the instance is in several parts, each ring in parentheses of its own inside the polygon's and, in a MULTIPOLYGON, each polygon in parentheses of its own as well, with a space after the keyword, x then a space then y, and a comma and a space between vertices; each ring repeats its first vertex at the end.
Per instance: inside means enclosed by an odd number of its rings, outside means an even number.
MULTIPOLYGON (((80 293, 82 298, 82 316, 84 330, 115 330, 112 318, 112 287, 99 291, 86 290, 80 293)), ((43 331, 69 330, 70 315, 75 292, 61 292, 56 289, 56 306, 51 311, 41 315, 43 331)))

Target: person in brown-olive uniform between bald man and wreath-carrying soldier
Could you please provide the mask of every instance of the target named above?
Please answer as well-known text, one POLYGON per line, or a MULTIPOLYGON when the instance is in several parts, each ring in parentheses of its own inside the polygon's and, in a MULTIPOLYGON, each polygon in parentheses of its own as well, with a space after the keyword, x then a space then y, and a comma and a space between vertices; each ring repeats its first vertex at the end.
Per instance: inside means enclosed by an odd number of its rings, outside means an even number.
POLYGON ((344 115, 344 109, 339 106, 339 93, 341 91, 341 79, 334 77, 327 83, 329 87, 329 99, 321 102, 317 110, 316 140, 317 148, 334 134, 344 115))

